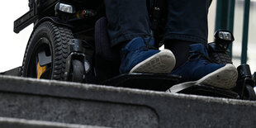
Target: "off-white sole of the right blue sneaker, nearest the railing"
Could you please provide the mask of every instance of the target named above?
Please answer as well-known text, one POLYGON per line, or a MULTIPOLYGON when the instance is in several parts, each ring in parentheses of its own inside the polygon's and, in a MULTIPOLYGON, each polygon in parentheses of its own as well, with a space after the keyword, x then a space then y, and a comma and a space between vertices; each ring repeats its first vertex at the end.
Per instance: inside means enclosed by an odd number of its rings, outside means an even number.
POLYGON ((193 85, 203 84, 208 86, 213 86, 216 88, 230 89, 235 86, 235 82, 238 77, 237 69, 233 64, 226 64, 224 67, 217 69, 216 71, 207 74, 205 77, 200 78, 197 81, 180 83, 169 88, 167 92, 175 93, 183 90, 184 88, 189 88, 193 85), (231 74, 231 75, 226 75, 231 74))

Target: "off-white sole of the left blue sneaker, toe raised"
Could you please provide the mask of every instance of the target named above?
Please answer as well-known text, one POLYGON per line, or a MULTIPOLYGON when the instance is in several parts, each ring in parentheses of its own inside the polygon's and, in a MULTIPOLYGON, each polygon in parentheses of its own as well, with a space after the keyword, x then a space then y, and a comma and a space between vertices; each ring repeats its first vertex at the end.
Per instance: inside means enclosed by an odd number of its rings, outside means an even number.
POLYGON ((135 65, 130 73, 170 73, 175 63, 175 57, 170 50, 161 50, 135 65))

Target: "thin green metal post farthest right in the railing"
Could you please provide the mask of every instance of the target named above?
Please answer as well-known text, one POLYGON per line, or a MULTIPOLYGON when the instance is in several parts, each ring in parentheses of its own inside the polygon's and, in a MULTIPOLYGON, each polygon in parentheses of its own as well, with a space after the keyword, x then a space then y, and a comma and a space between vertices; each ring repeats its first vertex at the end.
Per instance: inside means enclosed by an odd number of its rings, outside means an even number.
POLYGON ((242 59, 241 64, 247 62, 247 46, 248 46, 248 31, 249 31, 249 6, 250 0, 244 0, 244 26, 243 26, 243 40, 242 40, 242 59))

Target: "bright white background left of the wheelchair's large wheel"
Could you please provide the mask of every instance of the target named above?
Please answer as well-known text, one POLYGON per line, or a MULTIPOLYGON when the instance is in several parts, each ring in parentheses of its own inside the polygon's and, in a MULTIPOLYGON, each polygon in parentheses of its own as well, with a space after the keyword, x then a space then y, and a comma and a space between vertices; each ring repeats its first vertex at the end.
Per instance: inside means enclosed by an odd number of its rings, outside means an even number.
POLYGON ((13 32, 13 21, 28 11, 28 0, 0 1, 0 72, 22 64, 33 26, 16 34, 13 32))

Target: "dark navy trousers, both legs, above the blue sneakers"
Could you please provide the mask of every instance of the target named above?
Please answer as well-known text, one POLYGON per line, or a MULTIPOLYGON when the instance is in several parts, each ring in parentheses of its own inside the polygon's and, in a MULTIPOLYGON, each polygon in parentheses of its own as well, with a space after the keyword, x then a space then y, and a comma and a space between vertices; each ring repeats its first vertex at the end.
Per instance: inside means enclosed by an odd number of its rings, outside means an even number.
MULTIPOLYGON (((147 0, 105 0, 111 45, 150 35, 147 0)), ((164 40, 207 43, 211 0, 168 0, 164 40)))

